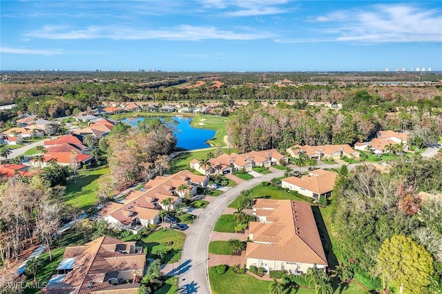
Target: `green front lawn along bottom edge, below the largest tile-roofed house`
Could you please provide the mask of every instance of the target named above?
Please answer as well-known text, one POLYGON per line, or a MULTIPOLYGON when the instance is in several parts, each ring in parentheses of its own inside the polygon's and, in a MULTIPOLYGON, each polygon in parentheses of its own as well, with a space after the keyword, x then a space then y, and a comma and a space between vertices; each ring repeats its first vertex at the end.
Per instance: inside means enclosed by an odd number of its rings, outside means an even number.
MULTIPOLYGON (((234 273, 233 269, 229 269, 226 273, 218 275, 215 267, 209 269, 209 281, 213 294, 267 294, 270 293, 269 286, 271 282, 262 281, 256 279, 247 273, 238 274, 234 273)), ((336 294, 361 294, 367 293, 367 291, 361 288, 356 283, 333 285, 334 292, 336 294)), ((155 292, 156 293, 156 292, 155 292)), ((313 288, 298 288, 298 290, 291 290, 285 292, 286 294, 315 294, 313 288)))

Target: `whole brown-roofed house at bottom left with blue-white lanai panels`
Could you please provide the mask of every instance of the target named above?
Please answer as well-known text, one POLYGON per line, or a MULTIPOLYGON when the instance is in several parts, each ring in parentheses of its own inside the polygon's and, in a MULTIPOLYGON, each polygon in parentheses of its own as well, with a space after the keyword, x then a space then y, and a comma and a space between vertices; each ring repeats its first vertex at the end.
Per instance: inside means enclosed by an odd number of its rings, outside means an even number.
POLYGON ((52 275, 41 293, 136 294, 144 275, 146 253, 135 243, 104 235, 66 247, 57 275, 52 275))

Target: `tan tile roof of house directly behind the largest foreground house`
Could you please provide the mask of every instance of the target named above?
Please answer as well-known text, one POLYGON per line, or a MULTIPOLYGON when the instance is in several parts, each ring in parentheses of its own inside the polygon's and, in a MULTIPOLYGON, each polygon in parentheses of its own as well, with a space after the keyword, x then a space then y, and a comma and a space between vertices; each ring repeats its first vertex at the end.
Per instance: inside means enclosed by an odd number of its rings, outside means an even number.
POLYGON ((309 176, 302 176, 301 178, 291 176, 289 178, 282 179, 282 181, 314 193, 323 194, 333 191, 334 182, 337 176, 338 174, 334 171, 316 169, 314 171, 310 171, 309 176))

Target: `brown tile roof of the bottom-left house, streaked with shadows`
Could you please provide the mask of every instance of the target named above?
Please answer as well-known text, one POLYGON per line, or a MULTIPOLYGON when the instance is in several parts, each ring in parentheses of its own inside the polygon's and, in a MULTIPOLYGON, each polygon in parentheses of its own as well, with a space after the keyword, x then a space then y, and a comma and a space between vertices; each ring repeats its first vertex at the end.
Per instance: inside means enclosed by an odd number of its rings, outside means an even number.
MULTIPOLYGON (((66 247, 63 257, 75 258, 75 262, 73 271, 67 273, 63 281, 68 286, 65 293, 93 293, 107 288, 109 284, 104 277, 109 271, 143 271, 146 253, 121 253, 117 251, 120 244, 125 248, 135 246, 135 242, 104 235, 84 245, 66 247)), ((57 293, 57 289, 48 292, 57 293)))

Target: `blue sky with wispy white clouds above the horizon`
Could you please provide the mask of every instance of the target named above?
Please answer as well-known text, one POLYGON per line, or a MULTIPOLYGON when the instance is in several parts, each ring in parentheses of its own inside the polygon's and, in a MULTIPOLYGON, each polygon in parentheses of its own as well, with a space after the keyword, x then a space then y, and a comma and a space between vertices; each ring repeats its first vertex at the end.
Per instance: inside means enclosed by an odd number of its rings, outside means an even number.
POLYGON ((442 70, 442 1, 1 0, 1 70, 442 70))

